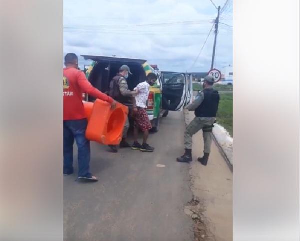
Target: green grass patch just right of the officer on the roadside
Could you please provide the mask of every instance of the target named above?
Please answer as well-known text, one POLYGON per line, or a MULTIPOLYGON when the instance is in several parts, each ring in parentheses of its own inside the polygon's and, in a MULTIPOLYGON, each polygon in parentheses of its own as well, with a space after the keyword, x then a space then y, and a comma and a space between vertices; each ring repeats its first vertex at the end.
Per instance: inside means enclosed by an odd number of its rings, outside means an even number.
POLYGON ((220 93, 220 102, 216 121, 223 126, 231 136, 233 136, 233 94, 220 93))

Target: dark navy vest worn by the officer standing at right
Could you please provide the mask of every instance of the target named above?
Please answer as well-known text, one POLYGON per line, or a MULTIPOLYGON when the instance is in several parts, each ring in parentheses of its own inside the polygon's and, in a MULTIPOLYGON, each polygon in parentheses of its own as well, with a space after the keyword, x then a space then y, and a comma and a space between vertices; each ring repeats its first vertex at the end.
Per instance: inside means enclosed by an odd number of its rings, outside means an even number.
POLYGON ((220 96, 218 91, 213 88, 205 88, 203 90, 204 100, 196 108, 196 117, 215 117, 218 109, 220 96))

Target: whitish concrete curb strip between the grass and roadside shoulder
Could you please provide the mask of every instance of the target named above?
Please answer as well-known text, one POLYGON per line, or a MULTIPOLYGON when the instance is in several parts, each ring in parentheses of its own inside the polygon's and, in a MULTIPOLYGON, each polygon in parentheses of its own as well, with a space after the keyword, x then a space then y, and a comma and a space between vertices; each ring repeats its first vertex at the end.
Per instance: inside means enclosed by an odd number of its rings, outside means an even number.
POLYGON ((216 144, 223 152, 226 161, 233 167, 233 138, 227 130, 219 124, 214 124, 212 134, 216 144))

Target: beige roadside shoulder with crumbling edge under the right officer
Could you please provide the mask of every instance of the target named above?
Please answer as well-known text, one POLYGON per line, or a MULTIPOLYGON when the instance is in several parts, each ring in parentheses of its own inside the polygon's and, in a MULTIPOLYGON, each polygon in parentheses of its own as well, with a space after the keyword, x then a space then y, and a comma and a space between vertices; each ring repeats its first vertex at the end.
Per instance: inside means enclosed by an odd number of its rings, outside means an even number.
MULTIPOLYGON (((189 113, 187 123, 193 118, 189 113)), ((203 140, 199 131, 193 137, 193 161, 190 165, 193 199, 185 213, 195 224, 195 240, 232 240, 232 172, 213 142, 207 166, 197 158, 202 156, 203 140)))

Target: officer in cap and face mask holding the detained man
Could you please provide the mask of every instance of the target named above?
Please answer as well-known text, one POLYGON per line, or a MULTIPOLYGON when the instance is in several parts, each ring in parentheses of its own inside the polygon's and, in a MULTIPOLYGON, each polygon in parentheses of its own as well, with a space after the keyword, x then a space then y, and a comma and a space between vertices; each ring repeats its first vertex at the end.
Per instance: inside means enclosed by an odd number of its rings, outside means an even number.
MULTIPOLYGON (((128 89, 127 78, 129 77, 130 68, 127 65, 122 65, 119 68, 118 74, 112 78, 109 86, 109 96, 115 99, 116 101, 126 105, 132 103, 132 97, 135 97, 137 91, 131 91, 128 89)), ((120 142, 120 148, 131 147, 126 141, 127 133, 129 129, 129 120, 126 118, 126 123, 123 130, 123 137, 120 142)), ((113 152, 117 152, 115 145, 109 145, 113 152)))

